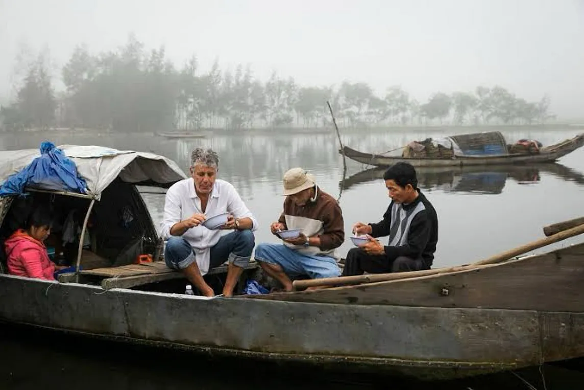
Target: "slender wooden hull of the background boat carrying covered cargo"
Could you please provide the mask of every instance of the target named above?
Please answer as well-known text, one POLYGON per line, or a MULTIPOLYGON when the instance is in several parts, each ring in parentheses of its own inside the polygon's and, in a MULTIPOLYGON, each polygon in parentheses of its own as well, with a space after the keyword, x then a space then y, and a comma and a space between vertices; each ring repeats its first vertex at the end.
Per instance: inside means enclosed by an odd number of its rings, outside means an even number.
MULTIPOLYGON (((473 135, 473 134, 466 134, 473 135)), ((458 136, 460 137, 460 136, 458 136)), ((454 138, 454 137, 453 137, 454 138)), ((456 167, 468 165, 496 165, 496 164, 531 164, 550 163, 584 145, 584 133, 572 139, 561 141, 557 144, 541 147, 536 154, 489 154, 485 156, 453 156, 451 158, 413 158, 393 157, 383 154, 365 153, 343 146, 340 154, 361 164, 375 165, 377 167, 389 167, 399 161, 412 164, 414 167, 456 167)))

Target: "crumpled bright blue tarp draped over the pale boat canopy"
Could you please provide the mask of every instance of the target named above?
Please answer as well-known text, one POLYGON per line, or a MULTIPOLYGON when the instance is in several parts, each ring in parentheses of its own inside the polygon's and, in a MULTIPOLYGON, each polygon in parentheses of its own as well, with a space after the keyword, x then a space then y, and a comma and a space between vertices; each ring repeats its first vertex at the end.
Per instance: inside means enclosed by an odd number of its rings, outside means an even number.
POLYGON ((0 196, 22 195, 27 186, 86 194, 85 180, 78 176, 75 163, 62 150, 44 141, 40 153, 22 171, 6 179, 0 187, 0 196))

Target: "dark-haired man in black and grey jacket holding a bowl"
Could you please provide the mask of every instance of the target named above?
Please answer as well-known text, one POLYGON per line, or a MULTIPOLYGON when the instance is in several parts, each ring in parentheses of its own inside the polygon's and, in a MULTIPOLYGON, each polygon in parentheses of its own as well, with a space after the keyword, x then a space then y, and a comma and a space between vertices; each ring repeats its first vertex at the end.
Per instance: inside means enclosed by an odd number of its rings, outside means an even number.
POLYGON ((416 170, 408 163, 392 165, 383 175, 391 198, 378 223, 353 225, 353 233, 367 234, 369 242, 349 250, 343 276, 364 272, 429 270, 438 241, 436 210, 418 188, 416 170), (377 237, 389 236, 384 246, 377 237))

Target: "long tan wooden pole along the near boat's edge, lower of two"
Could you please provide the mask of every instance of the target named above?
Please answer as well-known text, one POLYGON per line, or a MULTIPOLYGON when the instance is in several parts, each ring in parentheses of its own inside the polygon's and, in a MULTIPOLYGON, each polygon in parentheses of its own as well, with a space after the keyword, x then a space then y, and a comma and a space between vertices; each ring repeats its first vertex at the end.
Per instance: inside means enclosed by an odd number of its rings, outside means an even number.
POLYGON ((509 260, 512 257, 519 256, 520 254, 527 253, 534 249, 538 249, 550 244, 557 243, 558 241, 568 239, 569 237, 577 236, 578 234, 584 233, 584 225, 572 227, 572 229, 564 230, 554 234, 550 237, 545 237, 543 239, 533 241, 531 243, 522 245, 512 250, 505 251, 496 256, 486 258, 476 263, 468 265, 460 265, 458 267, 448 267, 448 268, 434 268, 433 270, 423 270, 423 271, 410 271, 410 272, 396 272, 390 274, 370 274, 370 275, 357 275, 357 276, 345 276, 338 278, 322 278, 322 279, 309 279, 309 280, 297 280, 294 281, 293 287, 296 290, 303 290, 308 287, 325 287, 325 286, 347 286, 363 283, 374 283, 374 282, 387 282, 391 280, 407 279, 413 277, 423 277, 436 274, 445 274, 448 272, 457 272, 471 270, 473 268, 481 268, 484 266, 502 263, 503 261, 509 260))

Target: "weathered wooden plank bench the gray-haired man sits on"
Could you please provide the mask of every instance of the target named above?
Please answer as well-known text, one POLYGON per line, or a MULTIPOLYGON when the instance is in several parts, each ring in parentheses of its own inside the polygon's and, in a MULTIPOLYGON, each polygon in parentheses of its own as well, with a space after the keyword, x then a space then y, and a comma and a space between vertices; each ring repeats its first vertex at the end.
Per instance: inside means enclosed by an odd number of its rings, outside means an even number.
MULTIPOLYGON (((207 275, 218 275, 227 273, 227 262, 219 267, 207 272, 207 275)), ((259 264, 252 260, 245 271, 256 270, 259 264)), ((82 270, 80 275, 103 278, 101 285, 103 289, 110 288, 131 288, 139 285, 161 282, 171 279, 185 278, 182 272, 166 267, 164 261, 154 261, 153 263, 128 264, 119 267, 95 268, 93 270, 82 270)), ((72 281, 71 275, 61 275, 60 282, 72 281)))

